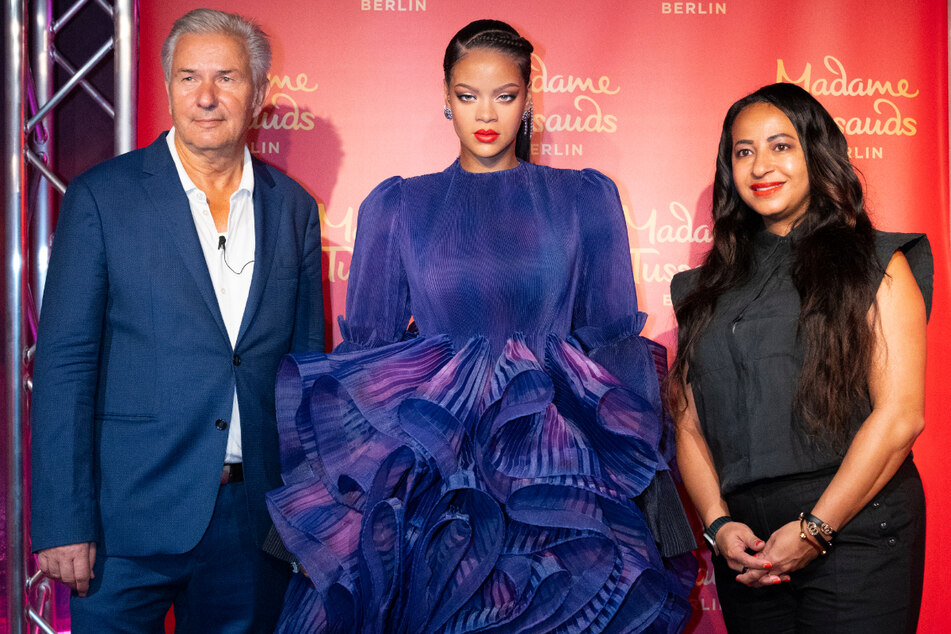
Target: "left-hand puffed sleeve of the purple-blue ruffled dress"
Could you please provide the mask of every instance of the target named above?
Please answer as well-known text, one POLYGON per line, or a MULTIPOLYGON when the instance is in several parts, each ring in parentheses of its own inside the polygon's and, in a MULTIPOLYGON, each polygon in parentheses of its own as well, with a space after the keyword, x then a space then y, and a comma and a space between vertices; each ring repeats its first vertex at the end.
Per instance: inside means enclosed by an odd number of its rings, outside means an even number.
POLYGON ((406 332, 411 313, 400 253, 402 185, 398 176, 389 178, 360 205, 337 352, 393 343, 406 332))

